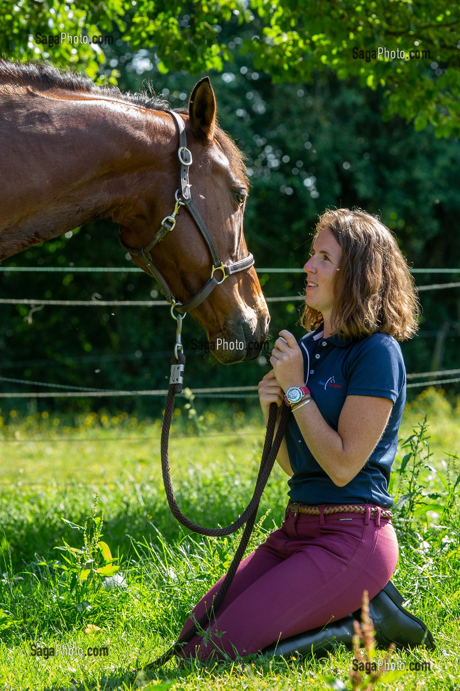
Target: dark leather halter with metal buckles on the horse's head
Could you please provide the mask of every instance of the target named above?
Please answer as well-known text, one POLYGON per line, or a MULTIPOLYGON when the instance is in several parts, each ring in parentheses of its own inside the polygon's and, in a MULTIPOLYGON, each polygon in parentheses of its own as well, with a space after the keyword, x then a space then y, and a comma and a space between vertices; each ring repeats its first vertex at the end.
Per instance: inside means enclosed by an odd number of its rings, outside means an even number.
POLYGON ((245 271, 245 269, 249 269, 249 267, 251 267, 254 263, 254 258, 252 254, 249 254, 245 259, 240 259, 240 261, 237 261, 233 264, 224 264, 220 260, 220 256, 218 254, 217 249, 215 248, 213 239, 209 234, 207 225, 206 223, 204 223, 204 220, 198 213, 198 209, 195 207, 191 200, 189 167, 192 164, 192 155, 190 149, 187 149, 184 121, 182 120, 182 117, 178 115, 178 113, 175 113, 174 111, 166 112, 173 116, 175 124, 178 127, 179 133, 178 157, 180 160, 180 189, 178 189, 178 191, 176 191, 175 193, 174 211, 171 214, 171 216, 165 216, 165 218, 162 220, 160 230, 158 230, 157 233, 155 233, 153 240, 151 240, 151 242, 148 243, 148 245, 146 245, 145 247, 142 247, 142 249, 128 247, 128 245, 124 243, 121 231, 119 233, 119 241, 122 247, 126 249, 126 252, 129 252, 129 254, 131 254, 132 256, 134 255, 139 258, 142 268, 146 270, 146 272, 151 274, 151 276, 155 278, 155 281, 157 281, 157 283, 160 284, 160 290, 162 294, 166 297, 166 300, 169 302, 171 307, 179 314, 185 314, 186 312, 194 310, 195 307, 198 307, 198 305, 200 305, 204 300, 206 300, 207 296, 209 296, 211 291, 214 290, 215 286, 220 285, 220 283, 223 283, 225 279, 228 278, 228 276, 231 276, 231 274, 236 274, 239 271, 245 271), (204 242, 207 244, 209 254, 211 255, 212 260, 211 278, 208 279, 207 283, 205 283, 200 292, 198 292, 195 295, 195 297, 186 302, 184 305, 182 305, 182 303, 178 302, 175 299, 175 297, 171 293, 171 290, 169 290, 168 284, 164 280, 162 274, 160 274, 160 272, 158 271, 157 267, 153 264, 151 258, 151 250, 153 249, 153 247, 160 243, 163 240, 163 238, 166 237, 166 235, 174 229, 176 223, 175 216, 176 214, 178 214, 180 207, 186 207, 186 209, 188 209, 189 213, 191 214, 191 217, 198 226, 198 230, 203 236, 204 242), (216 271, 222 272, 222 278, 220 278, 219 281, 217 278, 215 278, 214 275, 216 271))

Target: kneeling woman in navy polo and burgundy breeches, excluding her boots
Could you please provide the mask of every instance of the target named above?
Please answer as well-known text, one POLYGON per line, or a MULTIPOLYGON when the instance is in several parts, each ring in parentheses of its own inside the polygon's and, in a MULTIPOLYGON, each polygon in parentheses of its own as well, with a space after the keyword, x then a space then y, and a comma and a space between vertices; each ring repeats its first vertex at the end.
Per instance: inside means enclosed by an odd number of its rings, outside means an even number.
MULTIPOLYGON (((349 209, 320 216, 304 270, 307 333, 297 343, 280 331, 259 384, 266 424, 271 403, 292 411, 277 459, 290 477, 285 520, 242 561, 206 641, 195 636, 184 656, 248 655, 338 621, 396 567, 387 488, 405 404, 397 341, 416 331, 412 277, 391 231, 349 209)), ((193 618, 211 613, 221 582, 193 618)))

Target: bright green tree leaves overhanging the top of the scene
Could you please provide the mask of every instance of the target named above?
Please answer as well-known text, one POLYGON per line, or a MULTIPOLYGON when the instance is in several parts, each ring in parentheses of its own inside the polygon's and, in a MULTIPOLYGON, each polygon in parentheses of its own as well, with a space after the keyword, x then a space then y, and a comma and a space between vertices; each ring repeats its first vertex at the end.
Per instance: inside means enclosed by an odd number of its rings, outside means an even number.
MULTIPOLYGON (((247 54, 256 70, 274 82, 312 83, 332 70, 340 79, 357 77, 362 88, 385 88, 383 117, 428 123, 437 137, 460 133, 460 10, 455 0, 54 0, 0 2, 0 49, 8 57, 49 58, 85 68, 95 77, 104 63, 97 41, 59 46, 38 43, 60 32, 104 36, 113 28, 134 48, 151 48, 160 72, 222 70, 232 49, 247 54), (12 8, 15 9, 12 9, 12 8), (19 10, 18 10, 19 8, 19 10), (222 27, 249 30, 241 41, 222 40, 222 27), (40 30, 41 27, 41 30, 40 30)), ((238 37, 237 37, 238 38, 238 37)), ((115 82, 116 70, 108 75, 115 82)))

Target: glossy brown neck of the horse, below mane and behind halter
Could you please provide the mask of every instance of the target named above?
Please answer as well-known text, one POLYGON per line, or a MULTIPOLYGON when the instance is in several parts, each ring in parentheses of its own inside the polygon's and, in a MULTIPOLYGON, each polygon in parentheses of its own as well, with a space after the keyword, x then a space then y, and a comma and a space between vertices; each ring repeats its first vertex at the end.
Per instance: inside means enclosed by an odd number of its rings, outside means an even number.
POLYGON ((171 116, 94 95, 10 99, 0 259, 97 218, 140 218, 153 205, 177 135, 171 116))

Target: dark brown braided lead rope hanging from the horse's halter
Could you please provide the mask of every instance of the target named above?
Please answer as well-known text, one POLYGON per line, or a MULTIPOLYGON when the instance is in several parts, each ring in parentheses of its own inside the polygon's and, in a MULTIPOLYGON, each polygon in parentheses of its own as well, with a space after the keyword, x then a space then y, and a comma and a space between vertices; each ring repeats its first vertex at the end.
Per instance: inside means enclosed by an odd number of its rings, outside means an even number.
MULTIPOLYGON (((182 320, 181 320, 182 321, 182 320)), ((245 511, 237 518, 235 522, 226 528, 206 528, 200 526, 193 521, 186 518, 180 511, 177 502, 175 501, 173 487, 171 485, 171 471, 169 467, 169 431, 171 429, 171 419, 174 410, 174 399, 176 393, 182 392, 182 375, 185 366, 185 355, 182 352, 182 345, 180 343, 180 327, 181 323, 178 320, 178 338, 176 338, 175 345, 175 355, 171 360, 171 379, 169 384, 168 395, 166 397, 166 405, 164 406, 164 418, 162 426, 162 438, 161 438, 161 456, 162 456, 162 474, 164 489, 166 491, 166 498, 168 500, 169 508, 173 513, 173 516, 184 525, 189 530, 195 533, 200 533, 200 535, 207 535, 213 537, 220 537, 230 535, 235 533, 242 525, 246 524, 245 530, 242 533, 240 544, 236 549, 235 556, 231 562, 227 576, 225 576, 222 585, 217 594, 213 599, 211 612, 205 612, 203 616, 193 624, 180 638, 178 641, 172 645, 169 650, 167 650, 162 656, 157 658, 155 661, 146 665, 144 669, 149 670, 151 668, 160 667, 164 665, 167 661, 171 659, 176 654, 179 654, 182 647, 189 643, 195 634, 202 635, 204 627, 211 624, 211 621, 215 619, 215 612, 217 612, 218 607, 222 604, 222 600, 227 595, 227 591, 235 576, 238 566, 245 555, 249 539, 251 538, 251 533, 256 521, 257 510, 260 502, 260 498, 267 484, 267 480, 271 473, 271 468, 274 466, 276 460, 276 455, 278 454, 282 438, 285 435, 287 418, 289 417, 290 408, 286 404, 282 404, 280 424, 274 439, 274 431, 276 426, 277 409, 275 403, 272 403, 269 410, 269 419, 267 422, 267 433, 265 434, 264 448, 262 450, 262 459, 260 461, 260 468, 257 476, 256 487, 252 495, 251 501, 247 505, 245 511), (178 347, 179 346, 179 347, 178 347)))

